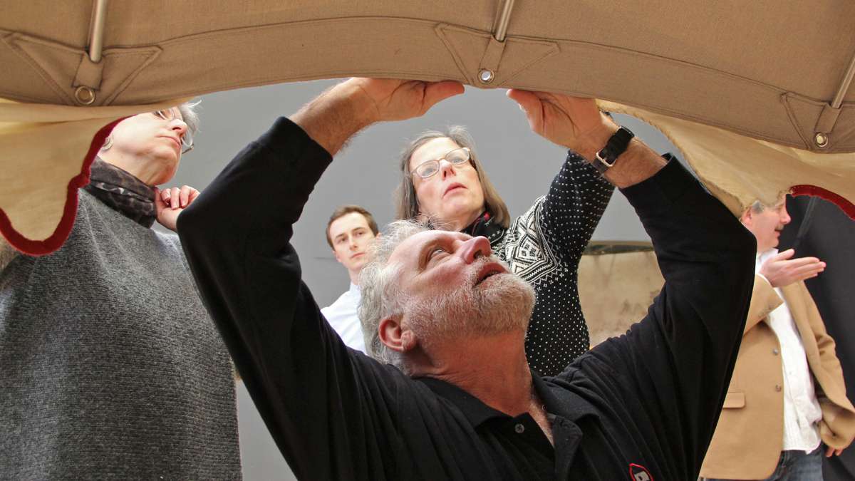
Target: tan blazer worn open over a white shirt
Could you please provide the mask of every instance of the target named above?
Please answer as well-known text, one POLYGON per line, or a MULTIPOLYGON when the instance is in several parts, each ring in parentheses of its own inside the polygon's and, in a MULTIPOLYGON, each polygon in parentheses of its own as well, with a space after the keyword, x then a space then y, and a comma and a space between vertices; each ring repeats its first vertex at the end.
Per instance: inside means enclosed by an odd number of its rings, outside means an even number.
MULTIPOLYGON (((855 437, 855 407, 846 398, 834 340, 804 282, 781 291, 816 381, 823 410, 820 436, 830 447, 845 448, 855 437)), ((769 282, 755 276, 734 376, 701 467, 704 478, 764 479, 775 470, 784 436, 784 381, 780 345, 767 316, 782 303, 769 282)))

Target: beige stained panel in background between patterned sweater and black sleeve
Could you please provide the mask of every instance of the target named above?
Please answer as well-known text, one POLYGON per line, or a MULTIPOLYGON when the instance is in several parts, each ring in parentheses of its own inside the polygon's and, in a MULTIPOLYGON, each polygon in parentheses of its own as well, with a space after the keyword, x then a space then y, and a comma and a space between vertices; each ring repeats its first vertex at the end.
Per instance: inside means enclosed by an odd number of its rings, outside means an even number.
POLYGON ((649 242, 605 244, 643 244, 647 250, 582 256, 579 300, 592 347, 610 337, 622 336, 629 326, 644 318, 665 282, 649 242))

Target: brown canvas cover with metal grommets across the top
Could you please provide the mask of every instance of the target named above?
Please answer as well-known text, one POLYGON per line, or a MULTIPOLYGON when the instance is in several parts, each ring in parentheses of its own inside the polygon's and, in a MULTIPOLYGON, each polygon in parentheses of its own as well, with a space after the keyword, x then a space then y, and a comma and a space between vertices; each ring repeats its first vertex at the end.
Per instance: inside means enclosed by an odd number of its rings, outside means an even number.
MULTIPOLYGON (((132 106, 350 75, 451 79, 602 98, 798 150, 791 157, 839 154, 831 175, 855 173, 849 0, 154 0, 105 3, 103 16, 97 3, 3 2, 0 98, 132 106), (91 36, 97 18, 103 34, 91 36)), ((824 168, 801 162, 764 193, 828 188, 824 168)))

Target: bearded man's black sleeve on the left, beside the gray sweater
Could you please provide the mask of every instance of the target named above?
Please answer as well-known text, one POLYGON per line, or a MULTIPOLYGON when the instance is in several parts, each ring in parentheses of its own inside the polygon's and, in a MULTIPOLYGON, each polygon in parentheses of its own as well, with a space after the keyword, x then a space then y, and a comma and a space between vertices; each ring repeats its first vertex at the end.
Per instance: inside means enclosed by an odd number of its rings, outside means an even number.
POLYGON ((281 118, 181 214, 178 231, 205 305, 293 472, 368 479, 369 466, 388 464, 380 453, 392 447, 389 404, 403 375, 345 347, 301 281, 289 243, 331 161, 281 118))

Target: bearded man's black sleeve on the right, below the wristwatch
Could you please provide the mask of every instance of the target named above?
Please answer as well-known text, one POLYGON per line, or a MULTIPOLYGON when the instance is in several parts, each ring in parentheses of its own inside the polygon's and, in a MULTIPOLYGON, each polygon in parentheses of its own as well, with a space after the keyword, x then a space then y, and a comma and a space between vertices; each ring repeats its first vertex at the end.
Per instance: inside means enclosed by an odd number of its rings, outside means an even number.
POLYGON ((665 478, 694 479, 739 350, 756 241, 675 159, 622 192, 651 236, 665 283, 640 324, 578 365, 600 378, 626 422, 647 431, 652 456, 670 466, 665 478))

